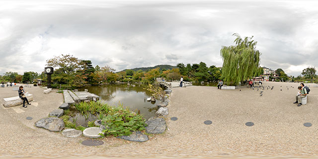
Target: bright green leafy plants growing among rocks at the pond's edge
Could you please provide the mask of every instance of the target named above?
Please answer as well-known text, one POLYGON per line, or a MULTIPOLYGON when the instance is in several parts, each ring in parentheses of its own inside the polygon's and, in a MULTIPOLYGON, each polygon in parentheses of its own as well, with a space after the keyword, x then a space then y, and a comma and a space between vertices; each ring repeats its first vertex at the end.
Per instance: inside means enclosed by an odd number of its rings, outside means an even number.
MULTIPOLYGON (((75 109, 83 115, 97 115, 102 120, 102 125, 106 127, 103 135, 123 136, 130 135, 132 131, 143 131, 147 124, 140 114, 135 114, 128 108, 124 108, 122 104, 118 107, 109 106, 99 101, 90 101, 88 103, 81 102, 75 105, 75 109)), ((94 123, 88 123, 92 126, 94 123)))

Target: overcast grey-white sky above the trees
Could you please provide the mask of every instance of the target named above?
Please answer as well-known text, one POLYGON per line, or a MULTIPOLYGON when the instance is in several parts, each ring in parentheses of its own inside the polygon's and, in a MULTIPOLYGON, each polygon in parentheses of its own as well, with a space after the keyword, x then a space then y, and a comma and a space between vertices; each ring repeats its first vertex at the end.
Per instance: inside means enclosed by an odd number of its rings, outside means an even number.
POLYGON ((0 75, 71 54, 116 71, 205 62, 254 36, 261 66, 318 66, 318 0, 0 0, 0 75))

